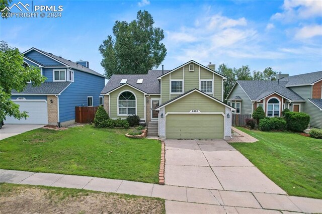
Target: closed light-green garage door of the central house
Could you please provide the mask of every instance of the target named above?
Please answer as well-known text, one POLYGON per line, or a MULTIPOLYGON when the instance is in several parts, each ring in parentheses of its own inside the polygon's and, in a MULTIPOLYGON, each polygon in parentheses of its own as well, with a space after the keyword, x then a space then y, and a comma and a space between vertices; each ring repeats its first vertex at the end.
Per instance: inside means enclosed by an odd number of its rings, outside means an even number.
POLYGON ((168 115, 166 139, 223 139, 222 115, 168 115))

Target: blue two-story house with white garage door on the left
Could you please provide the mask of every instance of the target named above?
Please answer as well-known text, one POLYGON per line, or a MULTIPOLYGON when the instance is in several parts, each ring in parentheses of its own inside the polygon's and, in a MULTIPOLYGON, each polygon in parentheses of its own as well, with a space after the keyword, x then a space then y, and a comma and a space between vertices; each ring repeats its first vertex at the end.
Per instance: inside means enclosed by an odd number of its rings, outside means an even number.
POLYGON ((39 87, 28 84, 22 92, 12 91, 12 100, 25 120, 7 117, 7 124, 49 124, 65 127, 75 122, 75 106, 98 106, 105 76, 89 68, 89 62, 72 62, 61 56, 31 48, 23 53, 25 66, 37 66, 47 77, 39 87))

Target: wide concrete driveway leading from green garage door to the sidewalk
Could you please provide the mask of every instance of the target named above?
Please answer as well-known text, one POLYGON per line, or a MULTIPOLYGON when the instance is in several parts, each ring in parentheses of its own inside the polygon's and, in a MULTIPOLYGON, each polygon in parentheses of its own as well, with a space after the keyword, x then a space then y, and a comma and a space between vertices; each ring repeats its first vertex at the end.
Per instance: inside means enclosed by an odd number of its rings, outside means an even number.
POLYGON ((224 140, 166 140, 165 143, 168 185, 286 194, 224 140))

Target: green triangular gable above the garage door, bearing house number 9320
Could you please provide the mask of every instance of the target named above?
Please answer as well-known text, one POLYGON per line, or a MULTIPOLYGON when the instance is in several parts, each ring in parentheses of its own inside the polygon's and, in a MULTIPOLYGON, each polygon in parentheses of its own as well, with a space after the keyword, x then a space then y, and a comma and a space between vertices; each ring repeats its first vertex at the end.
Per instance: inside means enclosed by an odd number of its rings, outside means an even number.
POLYGON ((225 106, 196 91, 166 106, 166 113, 168 112, 188 113, 191 110, 199 110, 201 113, 206 113, 206 112, 225 113, 225 106))

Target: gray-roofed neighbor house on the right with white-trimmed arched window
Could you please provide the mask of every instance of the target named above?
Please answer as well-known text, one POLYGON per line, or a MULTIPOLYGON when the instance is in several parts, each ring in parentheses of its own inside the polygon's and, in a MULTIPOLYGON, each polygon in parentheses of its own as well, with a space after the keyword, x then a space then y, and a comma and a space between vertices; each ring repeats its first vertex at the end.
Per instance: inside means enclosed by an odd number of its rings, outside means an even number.
POLYGON ((261 106, 267 117, 281 117, 288 108, 310 116, 310 127, 322 128, 322 71, 295 76, 278 74, 276 81, 237 80, 227 96, 233 114, 250 115, 261 106))

